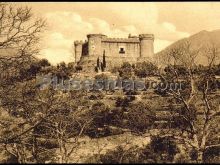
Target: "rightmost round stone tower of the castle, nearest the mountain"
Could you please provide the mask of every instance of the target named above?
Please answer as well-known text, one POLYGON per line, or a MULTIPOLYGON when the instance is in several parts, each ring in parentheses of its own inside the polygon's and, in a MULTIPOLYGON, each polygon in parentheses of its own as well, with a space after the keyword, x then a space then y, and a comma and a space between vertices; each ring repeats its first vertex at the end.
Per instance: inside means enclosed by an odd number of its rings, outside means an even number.
POLYGON ((140 34, 140 58, 142 60, 152 60, 154 55, 154 35, 140 34))

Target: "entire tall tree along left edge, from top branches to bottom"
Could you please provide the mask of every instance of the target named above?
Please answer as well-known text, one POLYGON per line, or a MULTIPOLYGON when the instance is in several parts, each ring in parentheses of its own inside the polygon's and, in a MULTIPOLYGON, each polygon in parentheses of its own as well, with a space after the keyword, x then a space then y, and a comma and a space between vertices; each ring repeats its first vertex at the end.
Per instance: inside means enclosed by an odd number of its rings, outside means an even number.
POLYGON ((34 79, 22 74, 27 68, 30 73, 37 71, 38 66, 31 64, 36 61, 44 27, 45 21, 35 19, 29 7, 0 3, 0 71, 5 75, 0 82, 0 144, 19 163, 30 161, 31 152, 26 152, 34 147, 29 143, 30 132, 45 117, 41 114, 45 100, 37 94, 34 79))

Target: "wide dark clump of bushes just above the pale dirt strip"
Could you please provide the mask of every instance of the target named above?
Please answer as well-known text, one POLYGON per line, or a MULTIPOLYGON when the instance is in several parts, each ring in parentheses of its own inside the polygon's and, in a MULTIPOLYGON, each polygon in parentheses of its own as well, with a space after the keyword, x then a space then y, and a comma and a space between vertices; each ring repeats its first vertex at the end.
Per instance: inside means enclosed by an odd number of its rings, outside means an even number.
POLYGON ((142 102, 131 104, 130 107, 113 109, 106 107, 104 103, 97 102, 87 116, 93 118, 86 130, 86 134, 90 137, 120 134, 123 133, 123 129, 143 133, 152 126, 155 120, 155 113, 142 102))

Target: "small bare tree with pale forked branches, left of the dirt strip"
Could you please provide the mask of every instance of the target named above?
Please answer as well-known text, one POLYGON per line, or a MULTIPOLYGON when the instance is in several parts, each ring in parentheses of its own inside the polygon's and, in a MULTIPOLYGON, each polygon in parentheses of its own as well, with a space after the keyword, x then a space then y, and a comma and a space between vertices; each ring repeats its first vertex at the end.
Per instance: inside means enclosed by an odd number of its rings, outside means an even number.
POLYGON ((59 163, 69 163, 72 154, 77 151, 79 138, 84 134, 93 118, 83 117, 81 110, 72 105, 73 100, 67 94, 57 103, 56 112, 47 118, 43 126, 48 128, 50 137, 54 137, 58 144, 59 163))

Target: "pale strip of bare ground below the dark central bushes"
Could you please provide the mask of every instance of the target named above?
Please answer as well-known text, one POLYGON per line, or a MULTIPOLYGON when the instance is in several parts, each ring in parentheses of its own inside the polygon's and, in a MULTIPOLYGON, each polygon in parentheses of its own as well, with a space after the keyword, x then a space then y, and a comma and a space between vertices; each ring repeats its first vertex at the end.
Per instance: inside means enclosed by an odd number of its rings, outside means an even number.
POLYGON ((144 147, 150 142, 149 136, 137 136, 131 133, 114 135, 104 138, 91 139, 83 137, 79 139, 80 145, 71 155, 71 163, 83 163, 95 154, 104 154, 108 150, 113 150, 119 145, 125 148, 132 146, 144 147))

